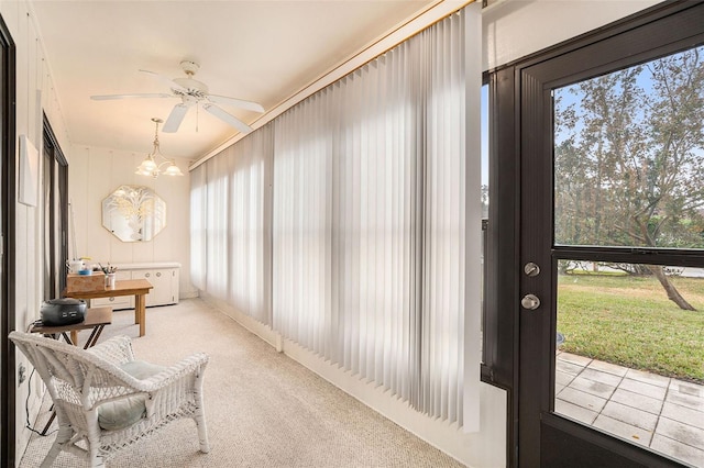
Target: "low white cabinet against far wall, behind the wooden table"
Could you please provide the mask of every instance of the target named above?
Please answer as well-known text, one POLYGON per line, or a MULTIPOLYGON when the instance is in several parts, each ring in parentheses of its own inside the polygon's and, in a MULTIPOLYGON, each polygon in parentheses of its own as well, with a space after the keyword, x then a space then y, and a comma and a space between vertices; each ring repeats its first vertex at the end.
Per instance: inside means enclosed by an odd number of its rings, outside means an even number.
MULTIPOLYGON (((146 294, 146 307, 178 303, 178 263, 123 264, 118 267, 117 279, 146 279, 154 288, 146 294)), ((113 310, 134 309, 133 296, 91 299, 90 307, 109 305, 113 310)))

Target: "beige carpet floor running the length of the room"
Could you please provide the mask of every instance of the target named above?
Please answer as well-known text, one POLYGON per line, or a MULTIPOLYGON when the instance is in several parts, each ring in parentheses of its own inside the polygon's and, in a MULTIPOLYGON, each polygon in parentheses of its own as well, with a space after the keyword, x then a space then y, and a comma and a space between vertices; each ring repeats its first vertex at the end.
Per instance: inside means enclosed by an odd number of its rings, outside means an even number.
MULTIPOLYGON (((198 450, 196 425, 177 421, 128 448, 108 467, 463 467, 408 431, 306 369, 200 299, 150 308, 138 337, 133 311, 117 311, 100 341, 132 337, 136 357, 169 365, 205 352, 211 450, 198 450)), ((87 338, 81 332, 79 341, 87 338)), ((36 379, 35 375, 33 379, 36 379)), ((44 427, 48 398, 35 422, 44 427)), ((20 467, 37 467, 56 437, 33 434, 20 467)), ((62 453, 55 467, 84 467, 62 453)))

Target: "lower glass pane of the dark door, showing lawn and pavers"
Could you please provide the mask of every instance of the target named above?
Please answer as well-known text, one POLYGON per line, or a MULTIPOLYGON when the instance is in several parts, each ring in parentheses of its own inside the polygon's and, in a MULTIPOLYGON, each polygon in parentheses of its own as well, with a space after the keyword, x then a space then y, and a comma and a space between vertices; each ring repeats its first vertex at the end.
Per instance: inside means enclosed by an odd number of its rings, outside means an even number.
POLYGON ((704 467, 704 269, 558 264, 554 412, 704 467))

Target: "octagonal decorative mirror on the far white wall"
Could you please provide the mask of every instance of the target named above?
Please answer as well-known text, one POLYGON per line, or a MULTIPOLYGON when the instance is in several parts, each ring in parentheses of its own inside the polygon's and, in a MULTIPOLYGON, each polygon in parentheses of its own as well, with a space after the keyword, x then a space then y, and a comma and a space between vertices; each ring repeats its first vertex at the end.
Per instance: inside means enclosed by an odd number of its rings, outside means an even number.
POLYGON ((102 226, 122 242, 147 242, 166 227, 166 202, 148 187, 120 186, 102 200, 102 226))

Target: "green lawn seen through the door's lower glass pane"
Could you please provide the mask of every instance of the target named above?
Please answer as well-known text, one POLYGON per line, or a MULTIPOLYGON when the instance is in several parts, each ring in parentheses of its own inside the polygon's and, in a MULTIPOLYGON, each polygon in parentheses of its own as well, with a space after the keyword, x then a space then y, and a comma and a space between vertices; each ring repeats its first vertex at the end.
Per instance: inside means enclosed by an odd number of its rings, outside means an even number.
POLYGON ((561 349, 704 383, 704 279, 671 279, 696 312, 680 310, 652 277, 560 276, 561 349))

